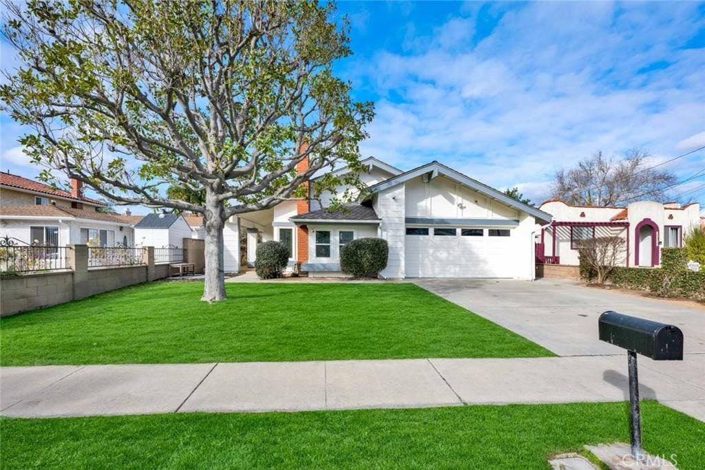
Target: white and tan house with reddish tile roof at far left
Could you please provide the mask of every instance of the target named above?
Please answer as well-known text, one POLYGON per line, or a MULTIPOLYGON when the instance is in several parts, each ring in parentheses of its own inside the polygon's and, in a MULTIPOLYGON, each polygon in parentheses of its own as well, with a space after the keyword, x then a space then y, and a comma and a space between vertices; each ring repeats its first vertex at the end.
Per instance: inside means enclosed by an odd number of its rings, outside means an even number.
POLYGON ((104 214, 100 201, 84 197, 82 184, 71 180, 71 192, 55 190, 11 173, 0 173, 0 236, 27 244, 63 246, 132 245, 133 221, 104 214))

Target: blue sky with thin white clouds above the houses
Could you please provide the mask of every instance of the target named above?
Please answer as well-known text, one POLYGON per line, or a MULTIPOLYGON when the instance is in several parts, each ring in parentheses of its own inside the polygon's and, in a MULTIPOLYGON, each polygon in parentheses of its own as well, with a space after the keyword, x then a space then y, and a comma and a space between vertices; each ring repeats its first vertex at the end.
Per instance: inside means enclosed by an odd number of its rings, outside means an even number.
MULTIPOLYGON (((355 55, 336 64, 375 101, 362 156, 400 168, 438 160, 540 202, 560 167, 602 150, 653 163, 705 145, 705 4, 338 4, 355 55)), ((0 49, 7 63, 11 51, 0 49)), ((34 176, 0 116, 3 171, 34 176)), ((663 168, 681 179, 705 151, 663 168)), ((705 175, 673 188, 705 202, 705 175)))

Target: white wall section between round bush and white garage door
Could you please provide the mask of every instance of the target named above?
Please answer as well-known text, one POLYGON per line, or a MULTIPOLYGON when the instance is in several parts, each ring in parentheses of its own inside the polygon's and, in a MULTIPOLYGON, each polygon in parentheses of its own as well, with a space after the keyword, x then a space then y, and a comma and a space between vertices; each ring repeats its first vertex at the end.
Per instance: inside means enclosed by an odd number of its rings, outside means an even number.
POLYGON ((405 185, 400 184, 379 192, 374 210, 382 222, 379 236, 387 240, 389 259, 387 267, 379 273, 383 278, 404 277, 405 185))

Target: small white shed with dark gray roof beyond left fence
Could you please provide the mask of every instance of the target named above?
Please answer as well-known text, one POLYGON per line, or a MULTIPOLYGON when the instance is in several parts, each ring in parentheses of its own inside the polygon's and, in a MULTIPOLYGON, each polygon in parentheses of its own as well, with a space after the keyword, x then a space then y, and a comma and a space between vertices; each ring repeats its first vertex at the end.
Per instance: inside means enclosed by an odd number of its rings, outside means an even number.
POLYGON ((135 225, 135 246, 183 248, 183 239, 192 238, 193 231, 178 214, 147 214, 135 225))

